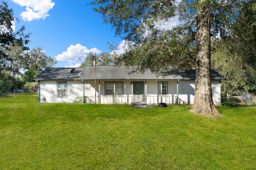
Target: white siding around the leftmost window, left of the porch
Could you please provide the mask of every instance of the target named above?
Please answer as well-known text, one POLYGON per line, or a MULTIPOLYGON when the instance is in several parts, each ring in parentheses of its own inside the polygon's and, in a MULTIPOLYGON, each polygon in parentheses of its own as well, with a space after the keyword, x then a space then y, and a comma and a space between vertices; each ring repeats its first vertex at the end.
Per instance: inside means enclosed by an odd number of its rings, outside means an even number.
POLYGON ((60 103, 74 102, 76 97, 82 96, 82 81, 79 80, 40 80, 40 102, 60 103), (67 82, 67 97, 57 97, 57 82, 67 82), (43 101, 46 97, 46 101, 43 101))

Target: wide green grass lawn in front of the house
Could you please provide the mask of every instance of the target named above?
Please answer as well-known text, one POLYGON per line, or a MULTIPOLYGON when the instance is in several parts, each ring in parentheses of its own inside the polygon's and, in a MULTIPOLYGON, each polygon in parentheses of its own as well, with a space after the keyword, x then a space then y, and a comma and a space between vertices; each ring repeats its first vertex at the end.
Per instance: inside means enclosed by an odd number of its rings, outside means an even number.
POLYGON ((0 169, 256 169, 256 106, 38 104, 0 98, 0 169))

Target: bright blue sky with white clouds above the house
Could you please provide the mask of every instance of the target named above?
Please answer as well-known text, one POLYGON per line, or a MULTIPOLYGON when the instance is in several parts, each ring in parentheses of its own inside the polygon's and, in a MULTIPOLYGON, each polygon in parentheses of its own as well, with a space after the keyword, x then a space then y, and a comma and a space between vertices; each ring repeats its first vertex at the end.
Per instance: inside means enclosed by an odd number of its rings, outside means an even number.
POLYGON ((92 51, 110 52, 107 42, 121 43, 102 16, 86 6, 89 0, 7 0, 14 10, 17 31, 25 25, 31 32, 28 47, 42 47, 46 55, 56 57, 55 67, 78 67, 92 51))

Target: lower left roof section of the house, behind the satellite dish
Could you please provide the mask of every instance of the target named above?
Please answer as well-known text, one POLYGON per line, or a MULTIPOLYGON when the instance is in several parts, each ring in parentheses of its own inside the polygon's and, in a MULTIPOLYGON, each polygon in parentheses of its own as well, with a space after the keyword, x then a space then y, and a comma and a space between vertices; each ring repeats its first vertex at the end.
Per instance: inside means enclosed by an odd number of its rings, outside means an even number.
POLYGON ((34 80, 74 80, 74 77, 79 77, 84 68, 76 68, 73 74, 70 73, 72 68, 46 68, 38 74, 34 80))

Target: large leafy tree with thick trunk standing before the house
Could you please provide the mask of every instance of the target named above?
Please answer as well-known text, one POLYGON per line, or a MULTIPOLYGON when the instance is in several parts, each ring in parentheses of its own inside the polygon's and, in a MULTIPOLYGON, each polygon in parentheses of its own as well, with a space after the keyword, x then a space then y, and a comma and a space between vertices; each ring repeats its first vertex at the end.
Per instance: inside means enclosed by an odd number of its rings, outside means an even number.
POLYGON ((190 111, 219 117, 212 101, 211 37, 224 37, 244 0, 94 0, 94 10, 110 23, 128 49, 120 60, 139 63, 140 71, 163 73, 196 67, 194 105, 190 111), (178 17, 180 24, 163 29, 178 17))

